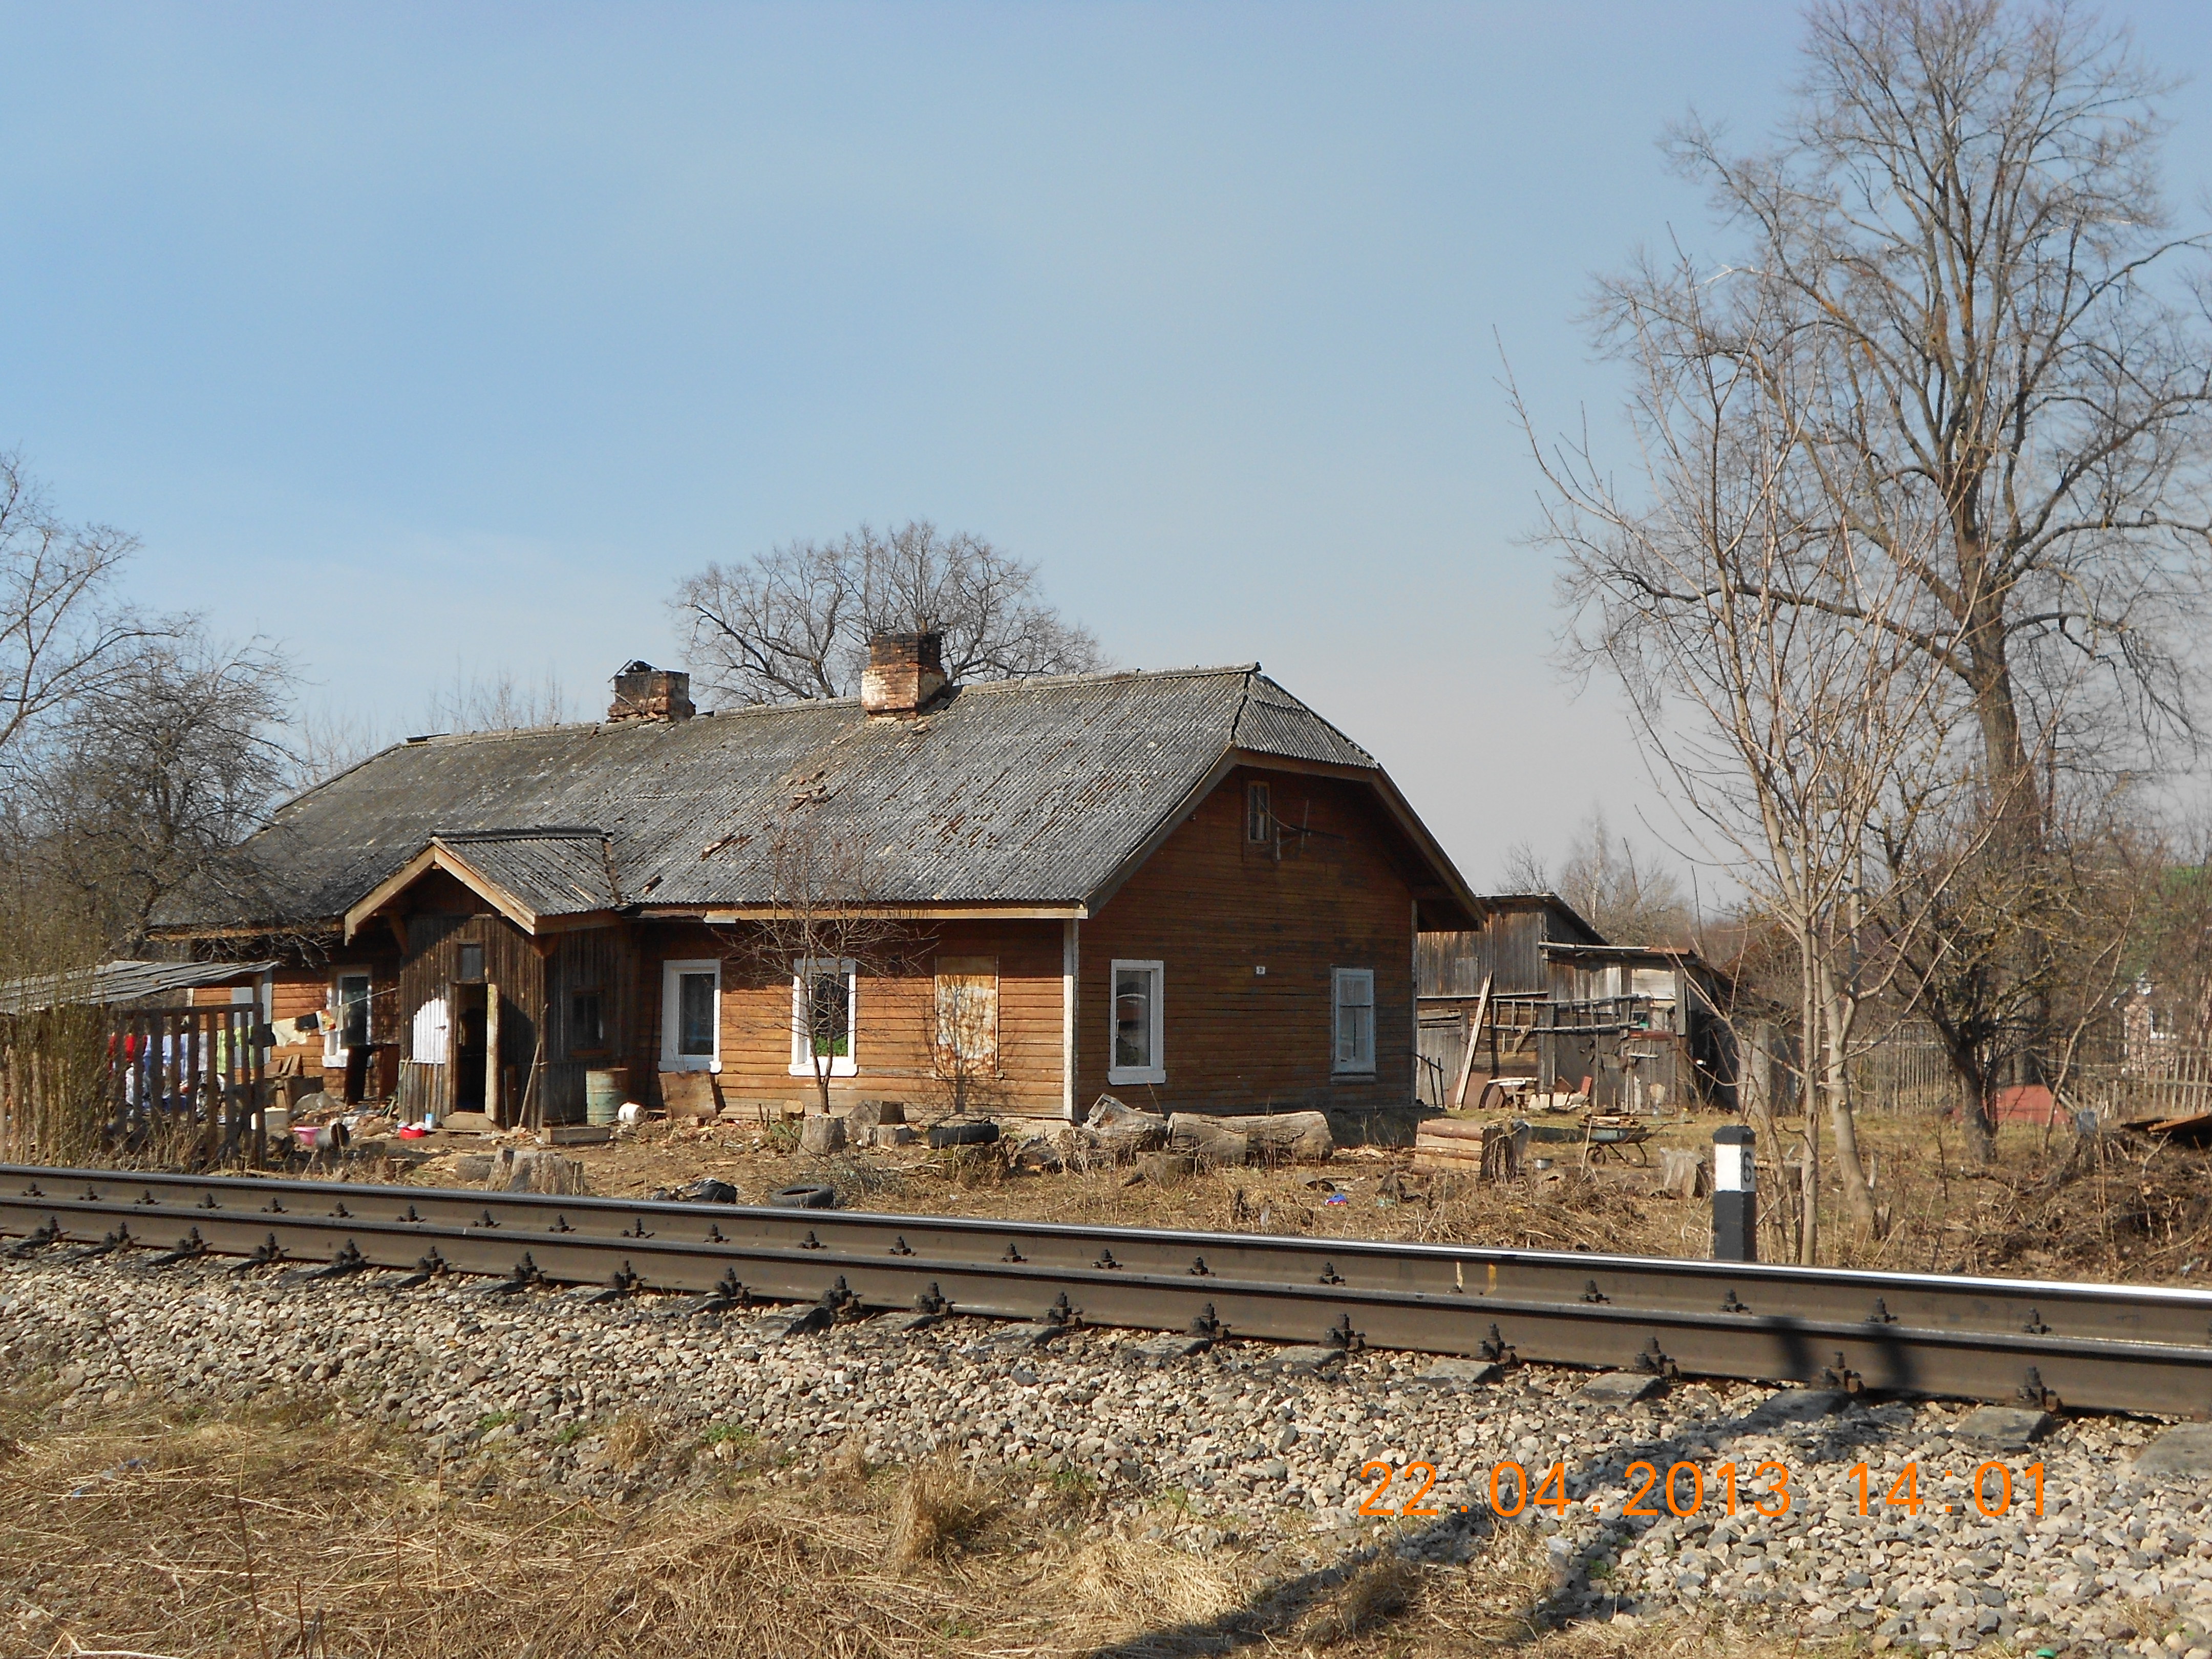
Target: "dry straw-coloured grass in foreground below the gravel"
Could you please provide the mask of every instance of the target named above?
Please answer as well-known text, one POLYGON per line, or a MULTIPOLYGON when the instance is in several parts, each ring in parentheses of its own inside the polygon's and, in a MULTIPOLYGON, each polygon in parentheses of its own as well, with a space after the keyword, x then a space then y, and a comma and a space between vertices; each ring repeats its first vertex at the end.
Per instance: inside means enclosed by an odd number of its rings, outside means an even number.
MULTIPOLYGON (((1079 1486, 1029 1509, 956 1471, 814 1478, 697 1460, 633 1506, 449 1486, 405 1440, 321 1402, 201 1411, 137 1398, 69 1418, 0 1389, 0 1648, 234 1659, 571 1655, 1332 1652, 1345 1659, 1840 1655, 1688 1619, 1553 1628, 1542 1540, 1416 1566, 1363 1548, 1279 1575, 1086 1537, 1079 1486)), ((626 1455, 668 1460, 644 1438, 626 1455)))

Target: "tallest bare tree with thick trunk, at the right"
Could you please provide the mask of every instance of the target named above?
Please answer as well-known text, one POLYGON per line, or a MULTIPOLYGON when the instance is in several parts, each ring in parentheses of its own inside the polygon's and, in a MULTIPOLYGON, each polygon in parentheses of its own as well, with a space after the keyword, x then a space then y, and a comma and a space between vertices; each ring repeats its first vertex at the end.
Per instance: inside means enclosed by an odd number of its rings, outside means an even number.
MULTIPOLYGON (((2046 991, 2112 958, 2093 878, 2124 854, 2101 803, 2194 741, 2208 241, 2159 199, 2157 93, 2124 31, 2064 4, 1827 0, 1772 148, 1674 135, 1739 252, 1601 290, 1630 358, 1752 369, 1801 498, 1849 544, 1849 591, 1778 566, 1759 604, 1878 628, 1920 659, 1898 664, 1913 684, 1944 681, 1924 701, 1973 787, 1942 834, 1920 827, 1927 867, 1891 867, 1885 929, 1916 945, 1885 931, 1885 960, 1947 1033, 1982 1157, 1993 1093, 2068 1044, 2046 991), (2017 925, 2022 902, 2048 925, 2017 925)), ((1571 599, 1648 575, 1593 557, 1571 599)), ((1637 599, 1655 626, 1708 602, 1668 582, 1637 599)))

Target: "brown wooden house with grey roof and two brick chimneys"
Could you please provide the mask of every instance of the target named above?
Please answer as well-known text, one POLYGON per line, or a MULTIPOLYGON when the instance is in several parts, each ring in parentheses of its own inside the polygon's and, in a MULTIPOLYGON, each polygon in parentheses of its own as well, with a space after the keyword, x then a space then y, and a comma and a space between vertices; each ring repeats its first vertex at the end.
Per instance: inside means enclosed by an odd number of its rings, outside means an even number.
POLYGON ((925 1113, 1402 1108, 1416 942, 1484 916, 1256 664, 951 686, 931 635, 878 639, 858 699, 714 714, 633 664, 606 721, 409 739, 241 858, 259 914, 164 933, 281 960, 279 1060, 495 1121, 580 1117, 591 1073, 728 1104, 823 1068, 925 1113), (796 880, 794 836, 856 874, 796 880), (821 905, 872 949, 779 956, 821 905))

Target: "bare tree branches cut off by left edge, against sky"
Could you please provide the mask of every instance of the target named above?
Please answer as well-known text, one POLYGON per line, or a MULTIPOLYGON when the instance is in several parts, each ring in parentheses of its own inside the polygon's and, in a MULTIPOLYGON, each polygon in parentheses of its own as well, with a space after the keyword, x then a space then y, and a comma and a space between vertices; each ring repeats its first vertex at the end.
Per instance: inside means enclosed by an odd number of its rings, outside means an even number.
POLYGON ((173 633, 115 597, 135 551, 124 531, 62 520, 22 456, 0 453, 0 759, 119 675, 135 641, 173 633))

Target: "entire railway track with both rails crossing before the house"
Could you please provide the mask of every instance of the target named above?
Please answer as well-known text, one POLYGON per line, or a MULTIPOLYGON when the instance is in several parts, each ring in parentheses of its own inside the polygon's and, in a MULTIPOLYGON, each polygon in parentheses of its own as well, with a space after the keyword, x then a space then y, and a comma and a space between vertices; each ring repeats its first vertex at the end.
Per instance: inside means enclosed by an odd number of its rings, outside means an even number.
POLYGON ((2192 1290, 35 1166, 0 1237, 2212 1416, 2192 1290))

